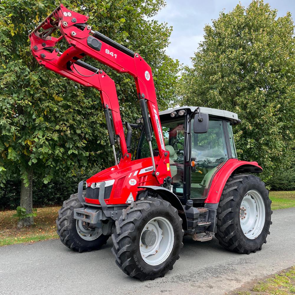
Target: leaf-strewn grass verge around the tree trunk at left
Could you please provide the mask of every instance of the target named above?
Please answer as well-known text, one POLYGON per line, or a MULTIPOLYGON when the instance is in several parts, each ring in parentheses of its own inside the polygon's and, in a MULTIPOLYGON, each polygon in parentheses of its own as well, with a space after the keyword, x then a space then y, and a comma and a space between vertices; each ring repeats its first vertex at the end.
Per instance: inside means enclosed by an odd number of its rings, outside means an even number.
POLYGON ((0 246, 58 238, 55 220, 59 209, 60 207, 38 208, 35 224, 19 230, 16 228, 17 219, 12 217, 15 210, 0 212, 0 246))

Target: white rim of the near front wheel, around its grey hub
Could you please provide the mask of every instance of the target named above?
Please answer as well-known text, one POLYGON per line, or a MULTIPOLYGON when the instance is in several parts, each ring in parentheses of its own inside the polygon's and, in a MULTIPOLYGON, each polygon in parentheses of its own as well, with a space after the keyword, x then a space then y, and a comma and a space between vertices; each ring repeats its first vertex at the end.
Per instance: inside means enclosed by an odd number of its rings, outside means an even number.
POLYGON ((165 217, 155 217, 144 227, 140 235, 140 253, 142 259, 149 265, 163 263, 171 254, 174 244, 174 230, 172 224, 165 217), (142 235, 145 230, 151 230, 156 234, 155 243, 145 245, 142 242, 142 235))

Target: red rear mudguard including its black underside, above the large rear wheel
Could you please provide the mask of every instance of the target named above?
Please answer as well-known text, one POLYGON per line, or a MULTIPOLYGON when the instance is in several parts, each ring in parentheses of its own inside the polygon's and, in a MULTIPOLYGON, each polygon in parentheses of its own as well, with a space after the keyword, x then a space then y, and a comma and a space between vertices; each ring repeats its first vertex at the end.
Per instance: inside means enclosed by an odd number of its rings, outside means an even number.
POLYGON ((205 203, 219 203, 224 185, 231 174, 261 172, 262 168, 257 162, 240 161, 238 159, 227 160, 224 165, 222 165, 222 167, 215 173, 205 203))

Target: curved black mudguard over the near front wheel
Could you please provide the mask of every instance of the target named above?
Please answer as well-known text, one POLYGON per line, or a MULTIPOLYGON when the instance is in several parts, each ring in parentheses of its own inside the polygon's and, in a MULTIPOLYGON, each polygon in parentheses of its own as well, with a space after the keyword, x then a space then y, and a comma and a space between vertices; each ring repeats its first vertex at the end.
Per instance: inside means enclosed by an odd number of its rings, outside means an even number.
MULTIPOLYGON (((139 186, 139 188, 155 191, 163 200, 169 202, 173 207, 175 207, 178 210, 179 217, 182 219, 183 230, 187 230, 186 214, 176 194, 161 186, 139 186)), ((138 197, 138 195, 141 193, 142 191, 139 191, 136 197, 138 197)))

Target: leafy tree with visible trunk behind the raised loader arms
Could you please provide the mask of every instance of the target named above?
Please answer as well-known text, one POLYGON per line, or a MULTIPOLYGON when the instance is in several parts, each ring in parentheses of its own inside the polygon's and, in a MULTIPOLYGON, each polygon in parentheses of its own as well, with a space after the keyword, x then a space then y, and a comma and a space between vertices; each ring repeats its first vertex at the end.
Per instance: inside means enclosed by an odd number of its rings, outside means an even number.
MULTIPOLYGON (((164 6, 163 0, 63 4, 89 15, 94 29, 140 53, 152 67, 160 106, 170 101, 178 62, 163 48, 172 28, 147 20, 164 6)), ((0 185, 13 174, 22 178, 21 206, 27 213, 32 212, 33 174, 47 183, 59 172, 71 175, 83 166, 104 167, 112 161, 99 92, 45 70, 30 53, 29 32, 57 5, 48 0, 0 4, 0 185)), ((66 44, 61 46, 64 50, 66 44)), ((124 103, 122 117, 134 119, 139 107, 132 77, 103 68, 115 80, 124 103)), ((31 224, 32 218, 27 218, 18 225, 31 224)))

